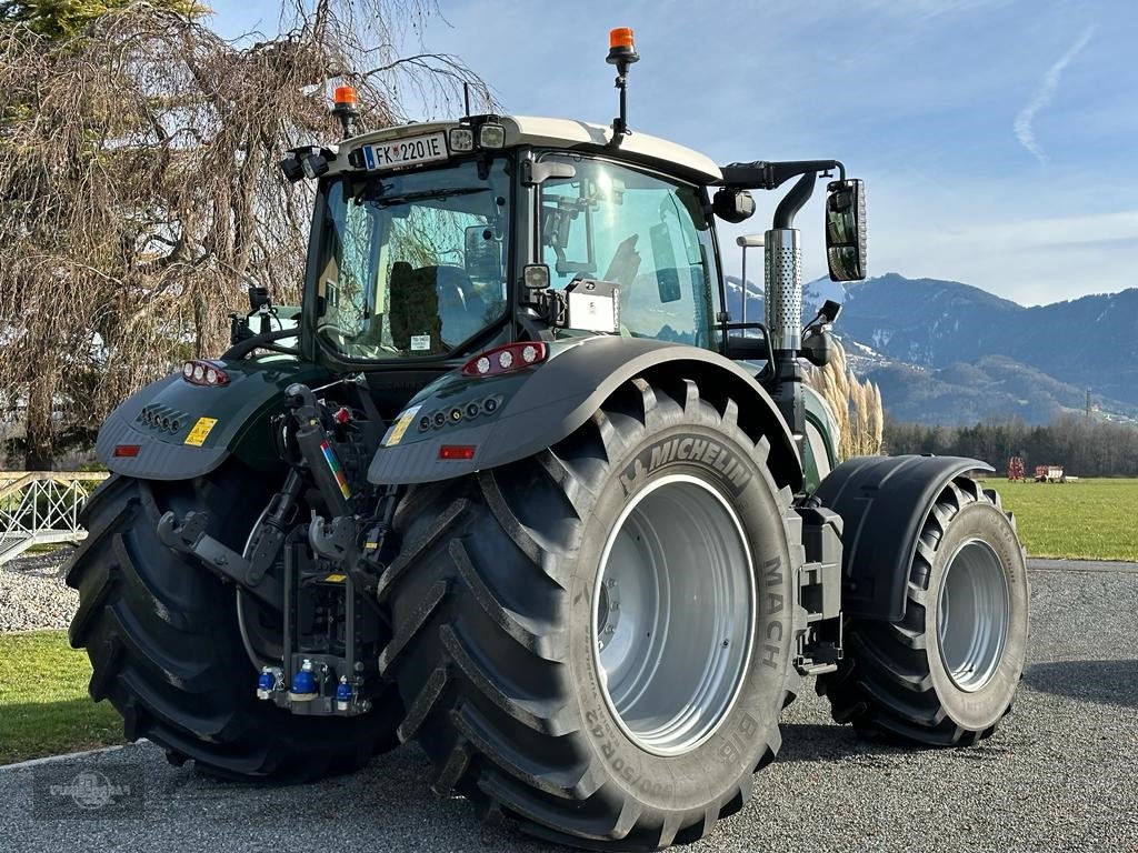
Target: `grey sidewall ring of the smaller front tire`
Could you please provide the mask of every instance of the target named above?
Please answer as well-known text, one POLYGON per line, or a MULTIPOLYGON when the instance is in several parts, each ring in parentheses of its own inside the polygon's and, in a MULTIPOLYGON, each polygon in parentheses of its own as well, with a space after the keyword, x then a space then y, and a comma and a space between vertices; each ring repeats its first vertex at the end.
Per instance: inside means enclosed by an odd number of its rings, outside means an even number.
POLYGON ((1023 549, 1007 516, 992 504, 968 504, 953 517, 937 546, 929 574, 925 603, 925 643, 933 688, 948 717, 962 728, 983 731, 1007 712, 1020 684, 1028 641, 1028 578, 1023 549), (948 577, 949 561, 962 545, 979 539, 988 545, 1004 570, 1008 593, 1007 636, 1000 662, 991 678, 978 690, 956 686, 941 656, 939 602, 948 577))

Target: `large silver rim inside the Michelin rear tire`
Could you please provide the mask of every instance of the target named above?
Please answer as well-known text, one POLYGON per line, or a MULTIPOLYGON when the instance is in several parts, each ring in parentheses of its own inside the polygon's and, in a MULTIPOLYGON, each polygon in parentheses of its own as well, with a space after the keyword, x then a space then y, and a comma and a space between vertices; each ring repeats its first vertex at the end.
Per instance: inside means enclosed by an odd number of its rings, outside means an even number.
POLYGON ((739 696, 754 615, 750 548, 735 511, 686 474, 653 481, 604 545, 592 641, 605 703, 642 750, 691 752, 739 696))

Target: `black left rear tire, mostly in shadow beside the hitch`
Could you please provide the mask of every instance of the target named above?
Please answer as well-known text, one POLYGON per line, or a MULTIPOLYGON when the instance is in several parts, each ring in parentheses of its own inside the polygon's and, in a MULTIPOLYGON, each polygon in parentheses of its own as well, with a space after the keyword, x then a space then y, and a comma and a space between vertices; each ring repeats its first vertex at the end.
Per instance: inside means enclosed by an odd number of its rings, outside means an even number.
POLYGON ((89 535, 67 569, 80 594, 71 644, 91 659, 91 697, 115 706, 129 740, 152 740, 172 763, 279 782, 352 772, 397 744, 395 691, 352 719, 294 717, 257 699, 233 586, 157 537, 163 512, 207 510, 209 533, 240 549, 261 508, 251 488, 236 473, 112 477, 83 510, 89 535))

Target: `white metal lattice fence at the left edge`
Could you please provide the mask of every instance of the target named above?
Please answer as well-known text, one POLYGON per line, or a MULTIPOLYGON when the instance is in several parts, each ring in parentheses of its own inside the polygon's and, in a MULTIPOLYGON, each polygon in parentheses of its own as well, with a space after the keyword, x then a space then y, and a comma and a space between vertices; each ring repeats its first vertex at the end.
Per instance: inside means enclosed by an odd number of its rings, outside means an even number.
POLYGON ((86 537, 79 513, 109 474, 90 471, 0 472, 0 565, 34 545, 86 537))

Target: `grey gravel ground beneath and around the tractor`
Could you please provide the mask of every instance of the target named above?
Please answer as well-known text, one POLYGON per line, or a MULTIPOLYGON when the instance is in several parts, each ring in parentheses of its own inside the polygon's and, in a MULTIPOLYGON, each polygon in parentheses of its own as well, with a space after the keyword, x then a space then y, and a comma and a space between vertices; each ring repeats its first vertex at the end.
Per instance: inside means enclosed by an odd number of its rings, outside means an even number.
MULTIPOLYGON (((1015 712, 979 747, 858 740, 806 694, 777 762, 734 818, 685 850, 1138 851, 1138 564, 1032 561, 1031 660, 1015 712)), ((511 851, 554 848, 484 828, 427 792, 412 747, 312 787, 220 784, 148 744, 0 770, 0 845, 66 850, 511 851), (63 819, 50 785, 81 771, 141 789, 125 813, 63 819)), ((64 803, 66 805, 66 802, 64 803)))

